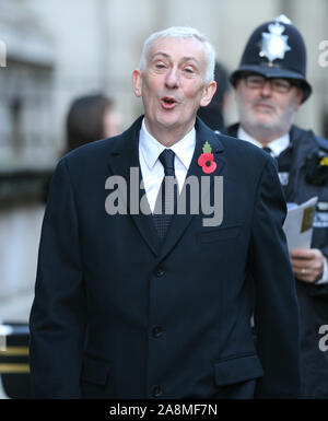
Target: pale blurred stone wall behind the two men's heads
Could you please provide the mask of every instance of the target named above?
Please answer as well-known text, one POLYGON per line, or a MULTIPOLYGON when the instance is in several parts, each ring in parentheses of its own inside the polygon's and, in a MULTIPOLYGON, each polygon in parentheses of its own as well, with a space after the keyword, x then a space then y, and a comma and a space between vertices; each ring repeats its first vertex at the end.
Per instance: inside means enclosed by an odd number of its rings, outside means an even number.
MULTIPOLYGON (((326 103, 327 69, 318 66, 318 43, 328 38, 326 0, 30 0, 38 25, 55 48, 55 109, 52 130, 57 149, 65 142, 65 118, 75 95, 104 90, 113 94, 124 128, 142 112, 131 89, 131 72, 142 43, 153 31, 190 25, 204 32, 229 70, 236 68, 246 39, 262 22, 289 14, 304 34, 308 48, 308 77, 315 94, 296 121, 320 131, 326 103)), ((234 101, 227 121, 236 118, 234 101)))

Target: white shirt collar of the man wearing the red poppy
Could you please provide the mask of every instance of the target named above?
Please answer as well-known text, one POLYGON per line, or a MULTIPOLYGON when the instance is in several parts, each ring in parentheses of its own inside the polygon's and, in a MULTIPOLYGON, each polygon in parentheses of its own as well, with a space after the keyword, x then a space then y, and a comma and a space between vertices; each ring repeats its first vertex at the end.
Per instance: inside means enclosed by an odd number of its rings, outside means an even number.
MULTIPOLYGON (((195 145, 196 130, 195 127, 192 127, 192 129, 181 140, 179 140, 169 148, 173 150, 179 161, 184 164, 186 169, 188 169, 190 166, 195 145)), ((160 154, 164 151, 164 149, 166 149, 147 130, 144 119, 142 120, 140 130, 139 148, 149 169, 152 169, 160 154)))

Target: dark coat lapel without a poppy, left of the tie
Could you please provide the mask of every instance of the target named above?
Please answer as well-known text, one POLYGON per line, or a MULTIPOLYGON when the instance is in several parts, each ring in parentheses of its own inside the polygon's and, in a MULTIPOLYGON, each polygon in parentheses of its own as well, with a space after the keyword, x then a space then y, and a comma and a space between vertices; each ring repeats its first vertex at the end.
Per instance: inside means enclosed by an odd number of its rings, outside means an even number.
POLYGON ((138 120, 122 133, 121 137, 117 138, 115 148, 109 154, 109 168, 113 175, 121 176, 127 183, 127 211, 128 214, 132 218, 137 229, 139 230, 141 236, 149 245, 154 255, 159 254, 161 242, 159 235, 153 225, 152 219, 150 215, 142 213, 139 209, 136 209, 136 204, 143 201, 143 204, 147 208, 147 211, 150 213, 149 203, 145 198, 144 189, 140 189, 140 182, 142 179, 140 163, 139 163, 139 132, 141 128, 142 118, 138 120), (131 186, 130 171, 133 168, 134 174, 138 174, 138 179, 133 179, 133 185, 131 186), (132 188, 131 188, 132 187, 132 188), (133 191, 134 198, 130 196, 130 189, 133 191), (133 204, 131 203, 133 200, 133 204))

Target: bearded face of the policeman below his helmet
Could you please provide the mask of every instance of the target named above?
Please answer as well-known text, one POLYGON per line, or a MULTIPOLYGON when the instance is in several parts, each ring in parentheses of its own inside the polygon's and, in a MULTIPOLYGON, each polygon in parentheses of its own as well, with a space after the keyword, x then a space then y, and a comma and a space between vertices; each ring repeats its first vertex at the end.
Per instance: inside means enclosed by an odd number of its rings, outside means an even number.
POLYGON ((262 87, 249 87, 241 79, 236 84, 241 125, 258 140, 282 136, 290 130, 302 97, 303 93, 296 86, 282 93, 272 90, 268 81, 262 87))

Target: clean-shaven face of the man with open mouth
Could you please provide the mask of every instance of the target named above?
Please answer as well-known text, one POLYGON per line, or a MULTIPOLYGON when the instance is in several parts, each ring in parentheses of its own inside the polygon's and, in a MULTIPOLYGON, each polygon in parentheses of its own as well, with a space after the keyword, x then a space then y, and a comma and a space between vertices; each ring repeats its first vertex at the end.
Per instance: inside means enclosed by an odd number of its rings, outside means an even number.
POLYGON ((152 45, 142 74, 133 72, 133 87, 142 96, 145 124, 159 130, 187 132, 195 124, 199 106, 211 102, 216 84, 204 84, 204 47, 196 38, 160 38, 152 45))

